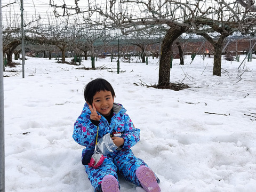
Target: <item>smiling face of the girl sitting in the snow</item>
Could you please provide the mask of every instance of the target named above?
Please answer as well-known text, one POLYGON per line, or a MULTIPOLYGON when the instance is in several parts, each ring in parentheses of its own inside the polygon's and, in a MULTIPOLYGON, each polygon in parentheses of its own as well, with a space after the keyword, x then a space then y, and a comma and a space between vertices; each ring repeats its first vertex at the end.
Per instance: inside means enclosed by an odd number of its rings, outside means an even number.
POLYGON ((108 116, 113 108, 114 98, 110 91, 100 91, 93 96, 92 103, 100 114, 108 116))

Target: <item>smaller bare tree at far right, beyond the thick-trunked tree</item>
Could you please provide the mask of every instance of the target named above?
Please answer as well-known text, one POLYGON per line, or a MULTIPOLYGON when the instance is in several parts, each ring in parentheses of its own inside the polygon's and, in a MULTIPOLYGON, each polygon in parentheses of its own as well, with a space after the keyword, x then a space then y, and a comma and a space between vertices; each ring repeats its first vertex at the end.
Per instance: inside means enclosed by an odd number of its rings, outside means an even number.
POLYGON ((214 47, 213 75, 221 76, 221 54, 226 38, 238 31, 250 34, 255 27, 256 19, 251 18, 248 13, 238 3, 228 4, 222 0, 209 7, 204 17, 190 21, 194 26, 194 33, 202 35, 214 47))

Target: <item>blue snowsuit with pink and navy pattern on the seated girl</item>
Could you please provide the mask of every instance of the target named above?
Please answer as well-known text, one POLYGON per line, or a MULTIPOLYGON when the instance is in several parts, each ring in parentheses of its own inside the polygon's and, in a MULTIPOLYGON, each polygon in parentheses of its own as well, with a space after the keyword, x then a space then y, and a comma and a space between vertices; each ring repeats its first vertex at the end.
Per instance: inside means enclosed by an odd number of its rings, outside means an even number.
MULTIPOLYGON (((142 165, 147 166, 142 159, 135 157, 130 149, 140 140, 140 130, 134 127, 130 117, 125 113, 126 109, 122 105, 114 103, 113 111, 110 123, 101 115, 98 139, 107 133, 121 132, 124 145, 121 149, 106 155, 103 164, 99 168, 95 169, 85 165, 85 171, 95 192, 100 191, 101 182, 105 175, 114 175, 118 181, 117 172, 127 181, 140 186, 135 172, 138 167, 142 165)), ((97 126, 91 122, 90 114, 91 110, 87 103, 85 103, 82 114, 77 118, 74 125, 73 139, 79 145, 86 147, 83 149, 82 158, 86 151, 94 149, 96 142, 97 126)))

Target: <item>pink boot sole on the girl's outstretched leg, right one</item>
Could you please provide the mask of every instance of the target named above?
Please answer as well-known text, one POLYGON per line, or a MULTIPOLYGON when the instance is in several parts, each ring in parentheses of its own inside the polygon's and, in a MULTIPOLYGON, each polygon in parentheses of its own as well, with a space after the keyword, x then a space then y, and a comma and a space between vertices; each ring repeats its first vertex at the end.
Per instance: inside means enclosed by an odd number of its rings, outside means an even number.
POLYGON ((156 175, 154 172, 146 166, 138 167, 136 171, 136 175, 138 180, 140 181, 140 185, 147 191, 147 192, 160 192, 161 189, 158 186, 156 181, 156 175))

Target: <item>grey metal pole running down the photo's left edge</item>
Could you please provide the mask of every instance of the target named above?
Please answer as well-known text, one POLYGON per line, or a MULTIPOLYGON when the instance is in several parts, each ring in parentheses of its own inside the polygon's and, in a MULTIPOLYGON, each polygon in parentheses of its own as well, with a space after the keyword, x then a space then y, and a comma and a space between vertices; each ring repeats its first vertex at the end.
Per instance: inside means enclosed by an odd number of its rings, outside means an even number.
MULTIPOLYGON (((2 1, 0 0, 0 23, 2 25, 2 1)), ((3 60, 3 29, 0 27, 0 66, 3 60)), ((4 161, 4 87, 3 67, 0 67, 0 192, 5 192, 5 161, 4 161)))

